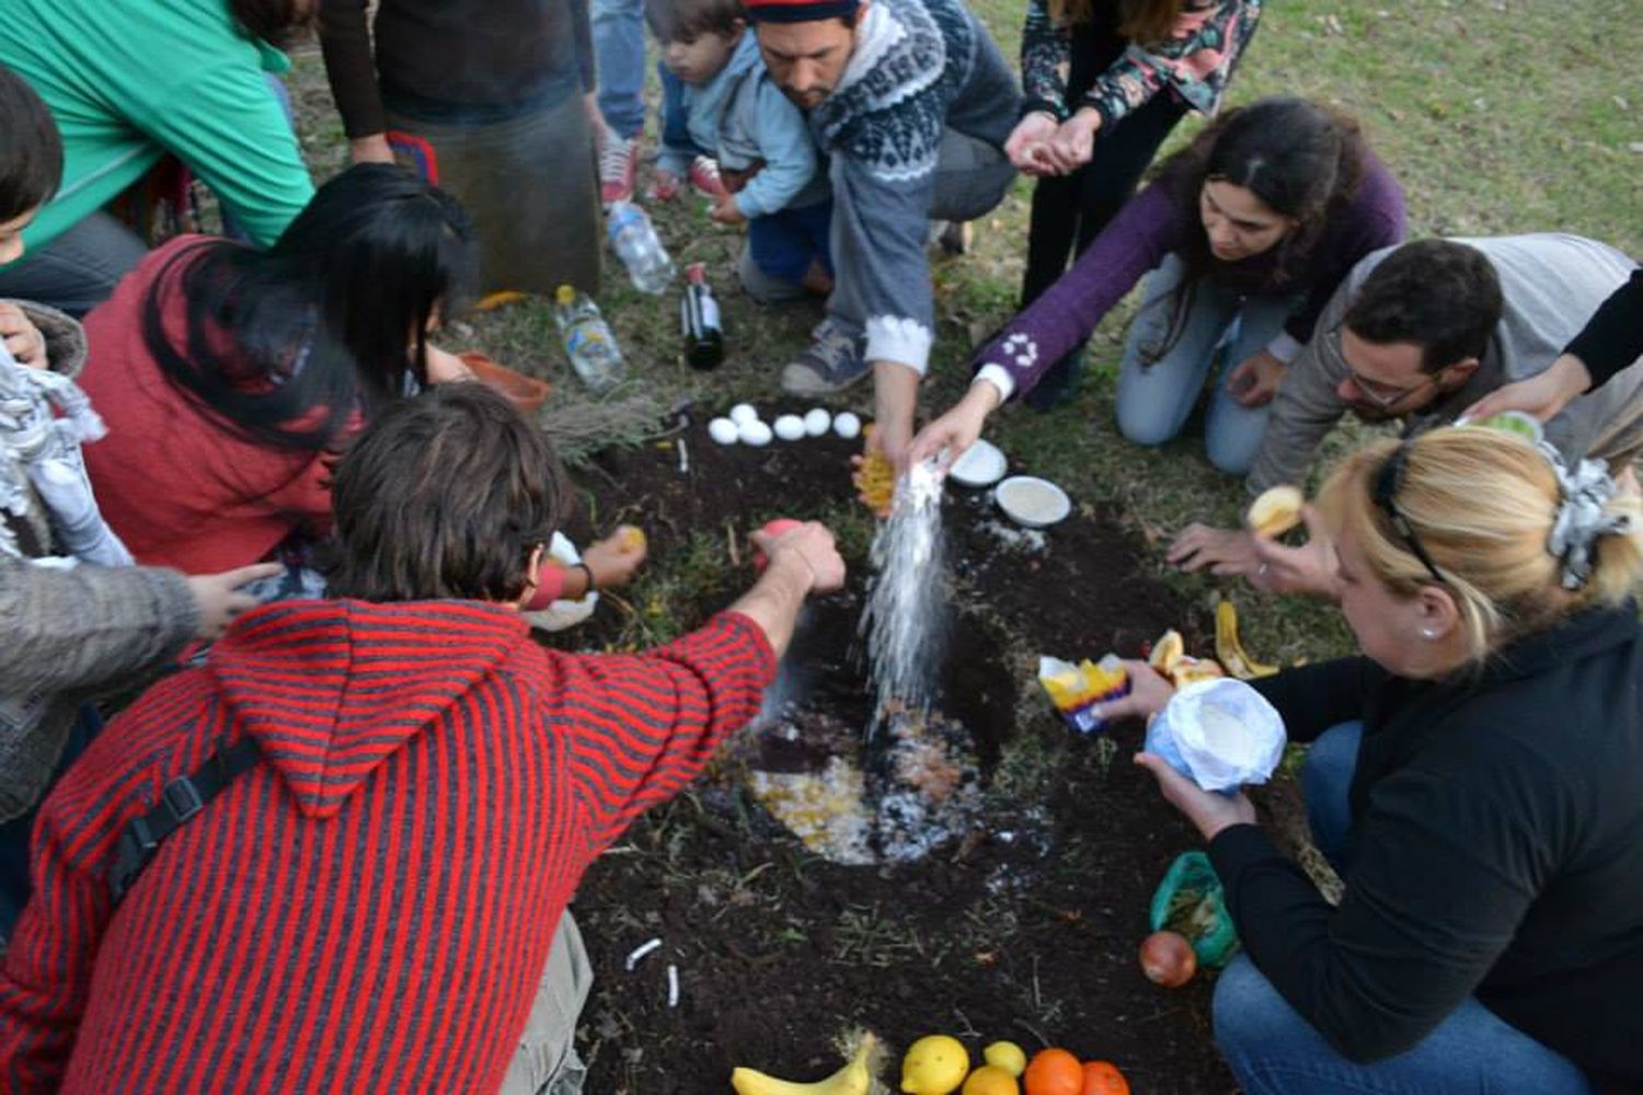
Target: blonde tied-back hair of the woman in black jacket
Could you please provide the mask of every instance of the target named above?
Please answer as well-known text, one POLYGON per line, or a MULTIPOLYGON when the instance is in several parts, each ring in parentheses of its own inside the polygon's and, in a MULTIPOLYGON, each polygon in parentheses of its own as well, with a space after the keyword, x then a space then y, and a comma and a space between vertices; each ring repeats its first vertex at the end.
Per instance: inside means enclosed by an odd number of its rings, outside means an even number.
MULTIPOLYGON (((1347 458, 1319 509, 1334 530, 1351 532, 1375 580, 1415 596, 1433 575, 1375 502, 1377 476, 1397 450, 1383 442, 1347 458)), ((1408 442, 1393 504, 1454 596, 1474 663, 1566 616, 1625 602, 1643 578, 1643 507, 1635 494, 1617 496, 1607 511, 1630 515, 1630 525, 1599 537, 1589 578, 1564 589, 1564 563, 1548 548, 1562 489, 1548 456, 1515 433, 1462 427, 1408 442)))

